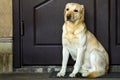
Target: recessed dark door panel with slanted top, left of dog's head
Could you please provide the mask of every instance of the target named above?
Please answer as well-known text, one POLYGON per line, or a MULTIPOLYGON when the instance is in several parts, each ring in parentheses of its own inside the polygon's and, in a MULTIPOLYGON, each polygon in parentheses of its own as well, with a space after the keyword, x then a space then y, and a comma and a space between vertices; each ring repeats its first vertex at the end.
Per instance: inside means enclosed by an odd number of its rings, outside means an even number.
POLYGON ((61 44, 63 18, 58 19, 61 16, 58 13, 60 5, 54 4, 55 2, 48 0, 34 7, 34 41, 38 46, 61 44))

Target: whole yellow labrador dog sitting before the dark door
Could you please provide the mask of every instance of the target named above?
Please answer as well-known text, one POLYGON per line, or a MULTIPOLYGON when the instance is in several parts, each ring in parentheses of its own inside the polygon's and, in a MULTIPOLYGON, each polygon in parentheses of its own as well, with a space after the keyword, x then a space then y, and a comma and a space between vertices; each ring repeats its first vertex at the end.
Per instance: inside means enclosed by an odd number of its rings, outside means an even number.
POLYGON ((70 77, 75 77, 78 72, 83 77, 89 78, 104 75, 109 68, 108 54, 96 37, 86 28, 84 6, 78 3, 66 4, 64 20, 63 60, 62 68, 57 76, 65 75, 69 54, 76 61, 70 77))

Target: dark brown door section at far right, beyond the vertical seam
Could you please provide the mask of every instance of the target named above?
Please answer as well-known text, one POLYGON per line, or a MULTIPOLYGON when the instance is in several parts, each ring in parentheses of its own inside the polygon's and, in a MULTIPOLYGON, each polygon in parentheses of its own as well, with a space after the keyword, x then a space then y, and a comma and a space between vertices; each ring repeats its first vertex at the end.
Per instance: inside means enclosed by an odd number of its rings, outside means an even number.
POLYGON ((120 0, 111 0, 110 44, 111 62, 120 64, 120 0))

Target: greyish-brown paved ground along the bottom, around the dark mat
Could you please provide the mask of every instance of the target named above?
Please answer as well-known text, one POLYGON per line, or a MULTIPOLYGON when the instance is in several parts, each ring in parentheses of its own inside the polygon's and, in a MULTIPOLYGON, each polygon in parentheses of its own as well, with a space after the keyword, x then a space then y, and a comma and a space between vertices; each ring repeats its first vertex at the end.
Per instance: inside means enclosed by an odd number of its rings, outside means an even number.
POLYGON ((4 73, 0 80, 120 80, 120 78, 50 78, 48 73, 4 73))

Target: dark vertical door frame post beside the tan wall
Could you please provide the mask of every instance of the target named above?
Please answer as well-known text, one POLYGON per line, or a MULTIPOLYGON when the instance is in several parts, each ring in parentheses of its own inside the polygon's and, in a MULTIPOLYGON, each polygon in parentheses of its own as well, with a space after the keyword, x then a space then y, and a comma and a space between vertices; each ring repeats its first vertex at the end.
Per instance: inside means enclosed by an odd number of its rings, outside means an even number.
POLYGON ((21 64, 21 36, 20 36, 20 0, 12 0, 13 5, 13 67, 20 68, 21 64))

